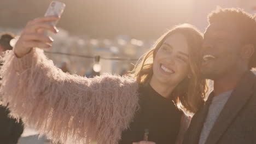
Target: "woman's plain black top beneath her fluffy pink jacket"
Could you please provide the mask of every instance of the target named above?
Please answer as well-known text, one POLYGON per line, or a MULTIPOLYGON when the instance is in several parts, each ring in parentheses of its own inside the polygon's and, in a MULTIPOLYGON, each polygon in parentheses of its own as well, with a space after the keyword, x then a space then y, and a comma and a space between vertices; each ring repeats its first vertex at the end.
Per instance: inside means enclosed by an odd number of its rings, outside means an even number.
POLYGON ((130 128, 123 131, 119 144, 143 141, 145 130, 149 130, 148 141, 156 144, 175 143, 182 111, 171 98, 162 97, 147 85, 139 88, 139 106, 130 128))

